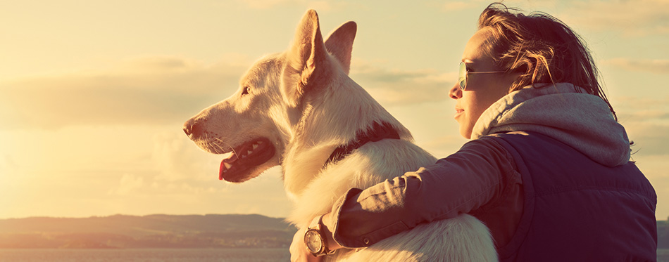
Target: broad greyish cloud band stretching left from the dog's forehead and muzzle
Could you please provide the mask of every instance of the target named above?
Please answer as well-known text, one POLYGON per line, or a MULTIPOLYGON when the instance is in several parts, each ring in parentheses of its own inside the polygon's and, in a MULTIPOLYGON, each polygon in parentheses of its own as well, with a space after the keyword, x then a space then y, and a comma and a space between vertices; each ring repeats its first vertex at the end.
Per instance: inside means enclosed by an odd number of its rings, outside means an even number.
POLYGON ((0 128, 182 122, 237 89, 251 64, 237 60, 203 65, 149 57, 103 71, 0 82, 0 128))

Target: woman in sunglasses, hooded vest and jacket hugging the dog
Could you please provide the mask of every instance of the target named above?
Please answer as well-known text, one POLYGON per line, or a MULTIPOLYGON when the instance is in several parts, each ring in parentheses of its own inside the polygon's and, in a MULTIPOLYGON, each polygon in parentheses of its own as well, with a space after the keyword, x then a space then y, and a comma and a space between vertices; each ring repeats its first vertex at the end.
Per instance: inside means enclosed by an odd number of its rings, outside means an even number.
MULTIPOLYGON (((468 213, 488 226, 501 261, 656 260, 655 191, 629 161, 580 37, 503 4, 488 6, 478 28, 449 91, 472 140, 432 166, 349 190, 322 216, 327 249, 468 213)), ((318 260, 304 242, 293 246, 294 259, 318 260)))

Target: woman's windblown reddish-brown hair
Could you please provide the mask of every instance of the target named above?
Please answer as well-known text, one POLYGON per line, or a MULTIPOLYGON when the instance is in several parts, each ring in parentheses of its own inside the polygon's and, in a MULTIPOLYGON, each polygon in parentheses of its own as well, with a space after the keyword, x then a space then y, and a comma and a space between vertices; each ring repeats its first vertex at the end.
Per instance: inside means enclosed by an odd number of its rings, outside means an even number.
POLYGON ((541 12, 524 15, 518 9, 493 3, 481 13, 478 27, 492 32, 484 51, 496 66, 521 73, 508 92, 567 82, 599 96, 618 119, 601 89, 599 70, 585 42, 558 18, 541 12))

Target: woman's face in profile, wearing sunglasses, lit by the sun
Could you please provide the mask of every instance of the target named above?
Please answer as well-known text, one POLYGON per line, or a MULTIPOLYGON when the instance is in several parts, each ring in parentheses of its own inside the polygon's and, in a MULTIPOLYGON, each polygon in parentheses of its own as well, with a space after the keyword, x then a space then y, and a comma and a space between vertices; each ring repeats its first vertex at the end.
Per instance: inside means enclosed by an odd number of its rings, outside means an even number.
MULTIPOLYGON (((478 30, 465 46, 462 62, 467 66, 468 72, 492 72, 504 71, 496 68, 494 60, 486 55, 483 44, 486 39, 492 37, 489 29, 478 30)), ((460 84, 449 91, 449 96, 455 99, 455 119, 460 124, 460 134, 465 138, 471 138, 472 129, 477 119, 492 103, 506 96, 509 87, 520 74, 492 73, 492 74, 468 74, 465 90, 460 89, 460 84)))

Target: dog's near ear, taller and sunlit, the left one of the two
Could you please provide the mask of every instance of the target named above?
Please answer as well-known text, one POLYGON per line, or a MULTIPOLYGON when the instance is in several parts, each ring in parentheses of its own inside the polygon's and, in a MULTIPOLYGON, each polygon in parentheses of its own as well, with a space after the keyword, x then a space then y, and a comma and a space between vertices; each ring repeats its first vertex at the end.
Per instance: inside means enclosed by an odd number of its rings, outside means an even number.
POLYGON ((326 63, 327 51, 320 34, 318 14, 309 10, 297 25, 282 75, 282 93, 289 105, 297 105, 309 83, 325 77, 326 63))

